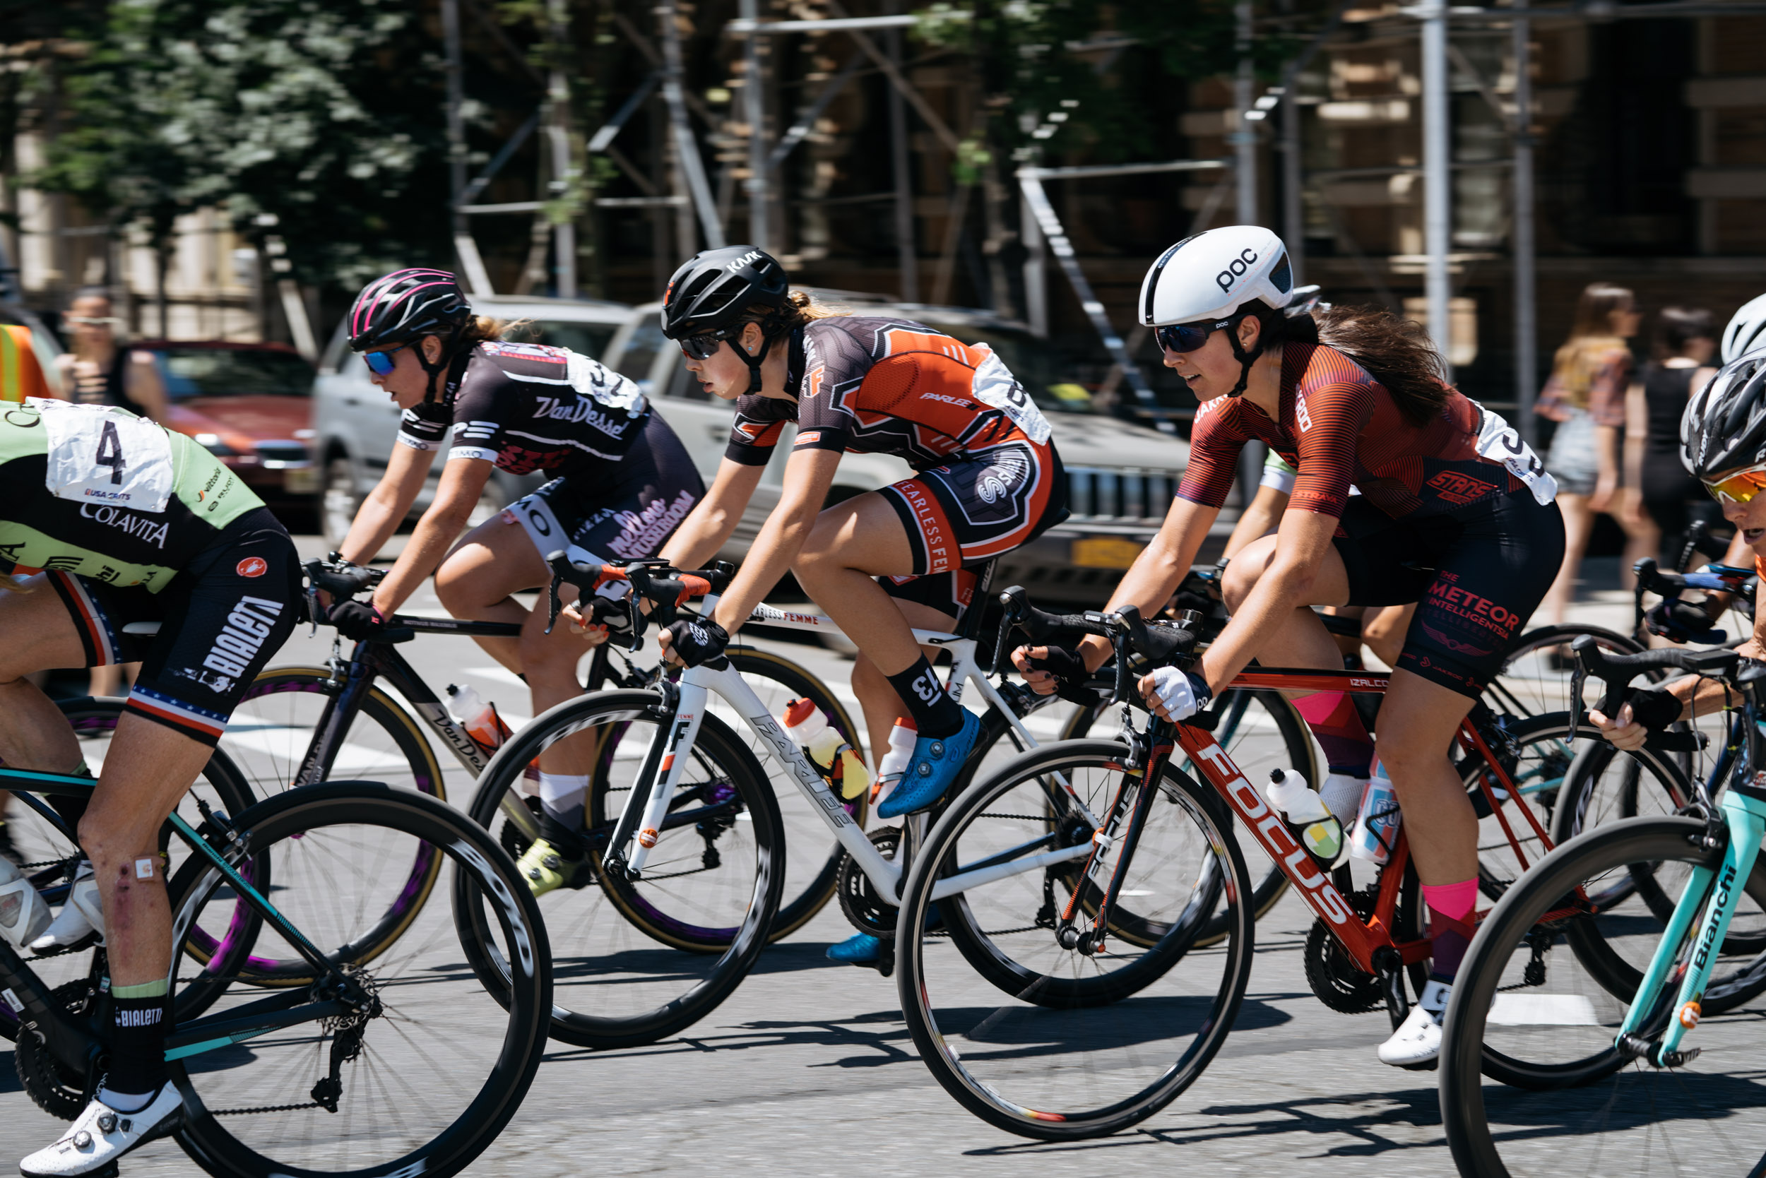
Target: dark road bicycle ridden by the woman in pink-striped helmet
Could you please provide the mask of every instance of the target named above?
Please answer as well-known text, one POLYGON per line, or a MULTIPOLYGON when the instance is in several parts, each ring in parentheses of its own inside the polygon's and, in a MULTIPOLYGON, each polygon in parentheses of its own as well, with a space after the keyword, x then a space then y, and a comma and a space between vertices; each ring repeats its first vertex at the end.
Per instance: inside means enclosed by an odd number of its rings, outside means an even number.
MULTIPOLYGON (((385 569, 350 565, 336 560, 336 555, 327 562, 309 562, 311 616, 318 618, 323 613, 316 592, 346 599, 378 585, 385 572, 385 569)), ((339 638, 332 643, 332 657, 323 668, 283 666, 260 673, 221 738, 221 752, 242 770, 244 781, 258 797, 274 797, 344 774, 371 775, 445 802, 445 774, 431 742, 424 738, 424 729, 452 754, 468 777, 484 772, 491 751, 466 733, 436 691, 399 652, 399 645, 417 634, 519 638, 521 627, 503 622, 394 615, 385 631, 355 643, 348 657, 339 638)), ((779 710, 788 698, 807 698, 842 735, 855 731, 841 701, 804 668, 761 650, 740 648, 731 657, 779 710)), ((636 668, 611 643, 597 646, 588 662, 588 691, 606 685, 641 689, 653 678, 655 669, 636 668)), ((533 795, 532 777, 526 781, 523 811, 514 812, 512 821, 502 830, 503 848, 517 858, 539 830, 539 798, 533 795)), ((860 819, 865 805, 867 800, 851 804, 860 819)), ((804 842, 805 850, 812 846, 809 841, 804 842)), ((419 860, 411 864, 411 887, 396 895, 387 911, 364 913, 362 929, 353 938, 360 952, 369 957, 383 952, 411 925, 434 888, 442 858, 426 848, 415 850, 419 860)), ((812 853, 802 853, 798 858, 805 862, 795 862, 788 869, 796 883, 782 911, 789 927, 779 934, 807 922, 834 894, 837 855, 823 853, 819 860, 812 860, 812 853)), ((307 980, 302 961, 263 955, 247 963, 244 975, 260 985, 307 980)))

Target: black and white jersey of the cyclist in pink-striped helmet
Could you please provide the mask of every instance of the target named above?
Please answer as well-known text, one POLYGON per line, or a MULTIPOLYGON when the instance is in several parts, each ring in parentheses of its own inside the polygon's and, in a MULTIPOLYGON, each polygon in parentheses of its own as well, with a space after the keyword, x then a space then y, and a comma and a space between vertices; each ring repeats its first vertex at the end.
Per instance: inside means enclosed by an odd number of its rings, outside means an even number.
POLYGON ((440 403, 404 410, 399 442, 419 450, 447 443, 449 457, 487 459, 516 475, 544 470, 593 482, 652 420, 638 385, 586 355, 482 343, 449 373, 440 403))

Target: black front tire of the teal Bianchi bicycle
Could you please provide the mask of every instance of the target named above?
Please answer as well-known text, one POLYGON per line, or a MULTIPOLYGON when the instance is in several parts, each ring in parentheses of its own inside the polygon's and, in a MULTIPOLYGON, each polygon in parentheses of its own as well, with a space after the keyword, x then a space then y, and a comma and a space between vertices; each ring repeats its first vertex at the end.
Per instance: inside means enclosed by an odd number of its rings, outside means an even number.
MULTIPOLYGON (((1453 1160, 1462 1174, 1506 1178, 1515 1171, 1503 1159, 1503 1148, 1508 1148, 1510 1157, 1521 1162, 1522 1155, 1535 1144, 1535 1159, 1524 1167, 1524 1173, 1551 1173, 1554 1178, 1563 1178, 1574 1173, 1572 1164, 1591 1159, 1593 1166, 1600 1167, 1598 1173, 1614 1174, 1618 1171, 1611 1169, 1611 1157, 1600 1157, 1604 1150, 1596 1148, 1598 1143, 1589 1141, 1589 1134, 1634 1130, 1646 1125, 1649 1116, 1669 1118, 1676 1129, 1685 1120, 1688 1081, 1699 1077, 1687 1070, 1653 1072, 1642 1067, 1626 1067, 1630 1061, 1612 1046, 1616 1016, 1598 1021, 1586 1031, 1581 1044, 1572 1042, 1563 1049, 1561 1054, 1575 1058, 1549 1067, 1499 1053, 1487 1040, 1492 1024, 1505 1026, 1505 1023, 1496 1023, 1491 1012, 1503 991, 1508 989, 1503 987, 1508 961, 1517 952, 1528 952, 1524 940, 1540 929, 1542 917, 1559 911, 1565 897, 1588 880, 1634 862, 1672 860, 1704 865, 1718 862, 1720 850, 1706 850, 1697 844, 1702 832, 1702 821, 1687 818, 1634 818, 1598 827, 1554 850, 1517 887, 1510 888, 1485 918, 1460 964, 1453 996, 1448 1001, 1441 1046, 1441 1120, 1453 1160), (1586 1054, 1577 1054, 1579 1051, 1586 1051, 1586 1054), (1588 1095, 1577 1097, 1574 1102, 1565 1093, 1551 1106, 1549 1118, 1542 1116, 1547 1109, 1536 1099, 1517 1099, 1519 1121, 1503 1125, 1503 1141, 1499 1143, 1491 1127, 1487 1097, 1503 1090, 1494 1088, 1487 1093, 1480 1074, 1526 1091, 1566 1090, 1598 1081, 1609 1081, 1611 1091, 1589 1088, 1588 1095), (1676 1077, 1679 1077, 1678 1083, 1671 1083, 1676 1077), (1660 1093, 1665 1097, 1660 1104, 1655 1100, 1655 1090, 1646 1088, 1657 1081, 1667 1086, 1660 1093), (1641 1086, 1626 1091, 1634 1083, 1641 1086), (1575 1136, 1577 1148, 1574 1152, 1563 1150, 1565 1136, 1575 1136)), ((1755 867, 1748 881, 1748 894, 1755 894, 1762 883, 1766 880, 1755 867)), ((1566 924, 1581 924, 1589 918, 1572 915, 1566 924)), ((1653 947, 1657 936, 1658 933, 1649 934, 1644 941, 1653 947)), ((1545 985, 1547 980, 1552 985, 1563 985, 1561 980, 1554 980, 1559 978, 1559 970, 1547 966, 1536 985, 1545 985)), ((1568 989, 1574 991, 1574 987, 1568 989)), ((1635 989, 1630 994, 1614 996, 1614 1008, 1623 1012, 1634 994, 1635 989)), ((1664 994, 1672 1001, 1672 982, 1664 994)), ((1665 1017, 1664 1010, 1657 1016, 1657 1023, 1660 1024, 1665 1017)), ((1747 1024, 1736 1026, 1740 1030, 1747 1024)), ((1653 1030, 1660 1030, 1660 1026, 1653 1030)), ((1757 1046, 1747 1044, 1743 1053, 1747 1056, 1745 1079, 1752 1081, 1757 1076, 1757 1046)), ((1757 1093, 1738 1091, 1738 1079, 1725 1077, 1722 1090, 1715 1093, 1717 1116, 1729 1118, 1762 1104, 1757 1093)), ((1499 1097, 1499 1100, 1506 1104, 1508 1097, 1499 1097)), ((1699 1134, 1701 1169, 1711 1169, 1713 1152, 1729 1146, 1727 1137, 1731 1136, 1732 1130, 1699 1134)), ((1635 1150, 1635 1139, 1623 1148, 1635 1150)), ((1741 1157, 1748 1173, 1757 1173, 1754 1167, 1759 1164, 1761 1141, 1752 1139, 1750 1148, 1741 1157)), ((1634 1157, 1634 1166, 1642 1167, 1637 1173, 1651 1173, 1651 1162, 1660 1166, 1662 1159, 1651 1155, 1648 1148, 1634 1157)))

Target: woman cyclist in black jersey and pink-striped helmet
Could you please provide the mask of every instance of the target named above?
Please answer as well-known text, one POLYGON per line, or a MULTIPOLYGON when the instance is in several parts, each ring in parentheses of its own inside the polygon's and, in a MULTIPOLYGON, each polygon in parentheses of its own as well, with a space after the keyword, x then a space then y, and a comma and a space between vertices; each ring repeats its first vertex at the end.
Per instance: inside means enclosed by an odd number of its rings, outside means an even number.
MULTIPOLYGON (((653 556, 705 484, 632 381, 567 348, 503 343, 505 330, 472 314, 443 270, 397 270, 357 297, 350 346, 404 422, 387 473, 344 539, 344 560, 371 560, 443 447, 447 464, 373 599, 330 613, 339 631, 367 638, 434 572, 454 616, 523 627, 519 639, 477 641, 526 676, 537 715, 583 691, 576 668, 608 631, 570 604, 567 622, 547 636, 546 611, 528 611, 510 593, 547 585, 546 556, 558 549, 586 562, 653 556), (493 468, 555 479, 461 537, 493 468)), ((576 590, 563 586, 560 597, 574 602, 576 590)), ((579 830, 592 751, 585 740, 563 740, 539 758, 542 830, 521 858, 537 894, 588 878, 579 830)))

